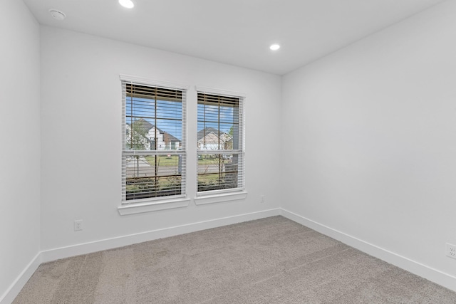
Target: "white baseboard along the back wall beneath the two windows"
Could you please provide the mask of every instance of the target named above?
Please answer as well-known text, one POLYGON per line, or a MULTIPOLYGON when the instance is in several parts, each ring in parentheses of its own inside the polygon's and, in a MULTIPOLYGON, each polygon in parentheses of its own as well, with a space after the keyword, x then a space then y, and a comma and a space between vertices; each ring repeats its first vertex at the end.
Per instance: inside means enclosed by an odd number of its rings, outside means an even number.
POLYGON ((68 258, 71 256, 79 256, 81 254, 93 253, 111 248, 118 248, 132 245, 134 243, 142 243, 155 239, 167 238, 168 236, 177 236, 180 234, 188 234, 190 232, 211 229, 219 226, 237 224, 242 221, 252 221, 254 219, 263 219, 269 216, 280 215, 281 209, 269 209, 264 211, 253 212, 249 214, 240 214, 237 216, 228 216, 220 219, 211 219, 208 221, 200 221, 192 224, 181 226, 167 227, 153 231, 140 232, 139 234, 130 234, 128 236, 118 236, 112 239, 103 239, 89 243, 80 243, 73 246, 54 248, 51 250, 41 251, 41 261, 55 261, 59 258, 68 258))

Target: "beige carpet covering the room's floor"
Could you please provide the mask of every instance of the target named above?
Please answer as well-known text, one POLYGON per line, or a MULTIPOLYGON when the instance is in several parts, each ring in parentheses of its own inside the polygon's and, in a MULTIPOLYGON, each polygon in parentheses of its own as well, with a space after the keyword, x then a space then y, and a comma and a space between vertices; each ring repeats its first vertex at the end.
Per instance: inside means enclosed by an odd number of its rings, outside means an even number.
POLYGON ((44 263, 14 303, 456 303, 456 293, 274 216, 44 263))

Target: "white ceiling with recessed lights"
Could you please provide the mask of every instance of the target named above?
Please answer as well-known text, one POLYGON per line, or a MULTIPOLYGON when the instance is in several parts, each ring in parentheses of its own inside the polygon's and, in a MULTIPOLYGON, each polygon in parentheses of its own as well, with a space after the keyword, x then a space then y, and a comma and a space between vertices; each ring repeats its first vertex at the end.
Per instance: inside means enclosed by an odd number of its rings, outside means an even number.
POLYGON ((24 0, 38 22, 283 75, 442 0, 24 0), (49 9, 63 11, 56 21, 49 9), (279 51, 270 51, 279 43, 279 51))

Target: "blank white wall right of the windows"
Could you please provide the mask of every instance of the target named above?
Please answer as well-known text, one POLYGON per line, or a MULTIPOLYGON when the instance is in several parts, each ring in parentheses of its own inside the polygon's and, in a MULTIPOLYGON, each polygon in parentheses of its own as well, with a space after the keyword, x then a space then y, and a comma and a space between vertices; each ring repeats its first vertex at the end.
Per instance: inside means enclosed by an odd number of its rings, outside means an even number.
POLYGON ((281 206, 450 276, 455 16, 456 1, 443 2, 285 75, 282 88, 281 206))

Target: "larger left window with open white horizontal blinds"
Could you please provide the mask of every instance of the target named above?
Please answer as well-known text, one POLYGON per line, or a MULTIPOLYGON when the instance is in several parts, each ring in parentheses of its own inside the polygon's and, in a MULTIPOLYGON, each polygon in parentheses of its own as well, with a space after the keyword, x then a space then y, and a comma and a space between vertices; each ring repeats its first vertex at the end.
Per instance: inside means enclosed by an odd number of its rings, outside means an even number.
POLYGON ((185 196, 185 90, 122 80, 122 201, 185 196))

